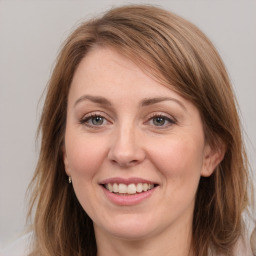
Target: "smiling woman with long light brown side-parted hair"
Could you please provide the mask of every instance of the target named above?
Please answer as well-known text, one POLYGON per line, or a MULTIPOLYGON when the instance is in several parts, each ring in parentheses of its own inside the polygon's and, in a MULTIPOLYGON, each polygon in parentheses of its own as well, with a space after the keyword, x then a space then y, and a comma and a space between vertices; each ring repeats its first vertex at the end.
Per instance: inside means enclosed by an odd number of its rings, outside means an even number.
POLYGON ((235 97, 188 21, 126 6, 79 26, 39 131, 30 255, 252 255, 235 97))

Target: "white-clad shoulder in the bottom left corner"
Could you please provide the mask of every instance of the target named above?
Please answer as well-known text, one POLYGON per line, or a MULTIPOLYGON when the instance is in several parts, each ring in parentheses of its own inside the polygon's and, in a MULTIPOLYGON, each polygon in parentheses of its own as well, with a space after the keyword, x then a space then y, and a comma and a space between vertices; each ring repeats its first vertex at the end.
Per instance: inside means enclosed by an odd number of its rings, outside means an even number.
POLYGON ((33 233, 27 233, 0 252, 1 256, 27 256, 30 253, 33 233))

